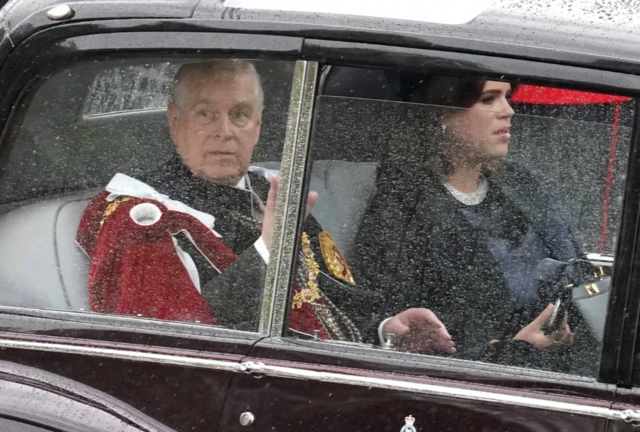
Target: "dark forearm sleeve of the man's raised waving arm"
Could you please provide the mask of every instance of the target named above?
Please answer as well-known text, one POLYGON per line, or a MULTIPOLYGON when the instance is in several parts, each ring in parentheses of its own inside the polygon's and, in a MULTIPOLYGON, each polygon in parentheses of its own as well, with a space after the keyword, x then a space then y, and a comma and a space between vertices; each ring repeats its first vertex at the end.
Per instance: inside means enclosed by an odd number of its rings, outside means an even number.
POLYGON ((252 246, 202 287, 202 297, 220 326, 258 330, 266 267, 252 246))

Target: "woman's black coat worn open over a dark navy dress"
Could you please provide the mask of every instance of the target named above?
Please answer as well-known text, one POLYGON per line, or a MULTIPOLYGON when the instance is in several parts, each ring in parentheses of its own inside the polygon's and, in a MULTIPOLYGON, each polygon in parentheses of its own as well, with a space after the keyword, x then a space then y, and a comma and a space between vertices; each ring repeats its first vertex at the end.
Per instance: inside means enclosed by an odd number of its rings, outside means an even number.
MULTIPOLYGON (((437 178, 395 169, 378 186, 359 230, 354 263, 366 288, 385 297, 373 315, 357 314, 369 338, 377 339, 381 319, 423 307, 443 322, 457 357, 554 370, 570 367, 566 352, 550 358, 533 345, 512 340, 553 299, 540 294, 533 305, 517 303, 486 239, 437 178), (501 342, 490 344, 494 339, 501 342)), ((489 189, 519 209, 550 257, 566 261, 581 256, 571 227, 532 175, 507 165, 499 177, 489 178, 489 189)), ((587 344, 599 354, 579 314, 572 311, 571 317, 579 339, 571 350, 587 344)))

